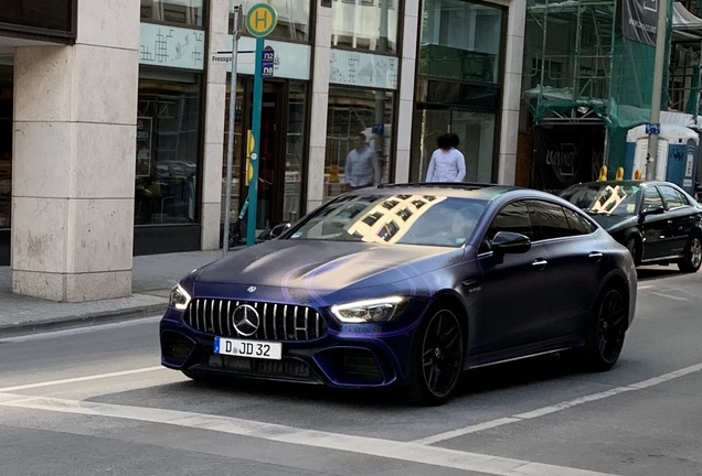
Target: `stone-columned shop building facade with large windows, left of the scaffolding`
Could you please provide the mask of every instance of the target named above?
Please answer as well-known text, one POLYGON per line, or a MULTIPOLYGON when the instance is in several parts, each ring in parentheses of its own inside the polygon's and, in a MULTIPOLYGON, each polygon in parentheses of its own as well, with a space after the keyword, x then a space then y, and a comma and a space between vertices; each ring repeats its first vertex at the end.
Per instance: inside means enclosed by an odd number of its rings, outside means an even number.
POLYGON ((384 183, 424 180, 448 131, 466 181, 513 183, 524 0, 19 0, 0 12, 0 264, 13 292, 124 296, 132 256, 221 247, 230 119, 232 220, 247 194, 255 39, 236 42, 234 91, 231 63, 212 55, 232 51, 235 6, 262 2, 278 20, 257 228, 343 193, 358 133, 384 183))

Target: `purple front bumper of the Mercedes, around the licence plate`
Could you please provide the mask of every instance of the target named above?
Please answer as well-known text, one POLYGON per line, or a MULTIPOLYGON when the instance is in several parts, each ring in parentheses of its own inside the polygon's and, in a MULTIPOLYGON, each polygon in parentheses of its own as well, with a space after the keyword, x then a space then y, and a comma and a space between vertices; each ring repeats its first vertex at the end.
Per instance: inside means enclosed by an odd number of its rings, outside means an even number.
MULTIPOLYGON (((283 358, 266 360, 214 353, 214 333, 188 325, 169 309, 160 323, 161 364, 177 370, 337 388, 407 385, 407 363, 418 320, 384 332, 375 324, 330 326, 310 340, 281 340, 283 358)), ((237 337, 242 338, 242 337, 237 337)))

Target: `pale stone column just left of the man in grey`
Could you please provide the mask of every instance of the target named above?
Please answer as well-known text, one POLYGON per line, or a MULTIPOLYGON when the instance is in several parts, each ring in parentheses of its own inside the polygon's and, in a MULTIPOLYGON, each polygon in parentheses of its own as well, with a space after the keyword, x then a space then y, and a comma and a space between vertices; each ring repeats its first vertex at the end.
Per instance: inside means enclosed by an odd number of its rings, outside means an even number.
POLYGON ((301 210, 302 214, 320 206, 325 198, 325 158, 331 63, 331 7, 322 7, 319 0, 317 0, 315 54, 312 56, 315 62, 312 64, 311 133, 307 165, 307 208, 301 210))

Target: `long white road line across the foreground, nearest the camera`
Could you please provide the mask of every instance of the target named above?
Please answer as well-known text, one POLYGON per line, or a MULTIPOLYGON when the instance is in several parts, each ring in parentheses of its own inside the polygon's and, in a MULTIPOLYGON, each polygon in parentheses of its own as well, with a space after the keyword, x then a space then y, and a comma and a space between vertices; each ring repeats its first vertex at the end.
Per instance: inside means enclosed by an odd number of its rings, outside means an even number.
POLYGON ((0 393, 0 407, 170 424, 498 476, 613 476, 607 473, 460 452, 413 442, 328 433, 274 423, 158 408, 127 407, 44 397, 20 397, 8 393, 0 393))

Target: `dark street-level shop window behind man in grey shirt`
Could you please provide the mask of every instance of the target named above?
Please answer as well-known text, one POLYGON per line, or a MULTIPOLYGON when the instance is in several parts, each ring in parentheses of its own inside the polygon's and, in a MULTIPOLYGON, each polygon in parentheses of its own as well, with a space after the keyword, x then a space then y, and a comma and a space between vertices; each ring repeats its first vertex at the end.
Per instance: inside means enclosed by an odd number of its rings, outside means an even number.
POLYGON ((353 137, 362 133, 375 150, 383 183, 391 181, 391 125, 394 93, 330 86, 327 116, 327 156, 325 159, 325 199, 347 191, 343 170, 354 148, 353 137))

